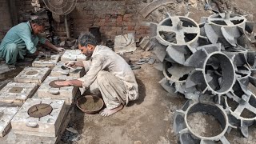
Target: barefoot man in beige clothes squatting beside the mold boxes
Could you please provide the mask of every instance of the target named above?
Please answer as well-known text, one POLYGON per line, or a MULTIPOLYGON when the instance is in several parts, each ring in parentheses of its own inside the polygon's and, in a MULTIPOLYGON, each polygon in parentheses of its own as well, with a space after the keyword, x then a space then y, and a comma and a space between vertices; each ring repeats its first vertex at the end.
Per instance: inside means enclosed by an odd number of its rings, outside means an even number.
POLYGON ((66 62, 66 66, 85 67, 86 75, 55 83, 59 86, 79 86, 83 91, 97 87, 106 104, 106 109, 100 114, 109 116, 122 110, 129 101, 138 98, 138 84, 133 71, 122 57, 110 48, 96 43, 94 35, 82 34, 78 38, 78 48, 90 60, 66 62))

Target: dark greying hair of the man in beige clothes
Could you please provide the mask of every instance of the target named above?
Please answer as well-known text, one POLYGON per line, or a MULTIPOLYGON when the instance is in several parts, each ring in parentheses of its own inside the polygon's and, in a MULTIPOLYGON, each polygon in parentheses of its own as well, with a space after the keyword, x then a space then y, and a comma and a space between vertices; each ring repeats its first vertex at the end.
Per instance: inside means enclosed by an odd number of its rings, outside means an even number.
POLYGON ((86 34, 81 34, 79 36, 78 44, 80 44, 81 46, 87 46, 88 44, 97 46, 97 41, 93 34, 86 33, 86 34))

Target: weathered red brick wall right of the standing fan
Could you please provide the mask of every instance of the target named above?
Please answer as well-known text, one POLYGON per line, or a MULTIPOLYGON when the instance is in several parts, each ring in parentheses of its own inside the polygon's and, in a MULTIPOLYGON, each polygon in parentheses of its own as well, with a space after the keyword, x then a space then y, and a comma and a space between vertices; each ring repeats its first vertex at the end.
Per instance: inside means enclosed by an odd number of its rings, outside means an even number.
POLYGON ((99 26, 103 38, 133 32, 137 38, 149 34, 145 18, 138 14, 146 6, 138 0, 78 0, 70 18, 74 23, 74 36, 88 31, 90 26, 99 26))

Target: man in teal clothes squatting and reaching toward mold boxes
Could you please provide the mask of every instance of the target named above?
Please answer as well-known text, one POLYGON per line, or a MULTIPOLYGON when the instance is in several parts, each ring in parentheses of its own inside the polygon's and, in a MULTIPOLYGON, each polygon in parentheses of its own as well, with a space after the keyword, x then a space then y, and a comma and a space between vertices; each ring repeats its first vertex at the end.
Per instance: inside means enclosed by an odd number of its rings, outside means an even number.
POLYGON ((54 46, 46 38, 38 35, 45 30, 43 21, 43 19, 38 18, 30 22, 22 22, 12 27, 2 39, 0 58, 4 58, 7 64, 14 65, 18 59, 24 59, 27 53, 34 54, 37 51, 36 46, 38 42, 53 50, 65 50, 62 47, 54 46))

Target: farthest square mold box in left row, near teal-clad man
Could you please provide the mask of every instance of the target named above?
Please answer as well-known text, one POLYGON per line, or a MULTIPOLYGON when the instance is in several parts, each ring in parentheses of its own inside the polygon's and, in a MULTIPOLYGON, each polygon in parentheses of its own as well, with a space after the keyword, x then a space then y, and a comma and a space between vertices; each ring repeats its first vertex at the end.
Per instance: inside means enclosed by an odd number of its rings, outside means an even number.
POLYGON ((32 66, 34 67, 54 67, 58 60, 60 58, 60 55, 50 55, 50 58, 46 58, 42 56, 38 56, 38 58, 35 58, 34 62, 32 62, 32 66))

